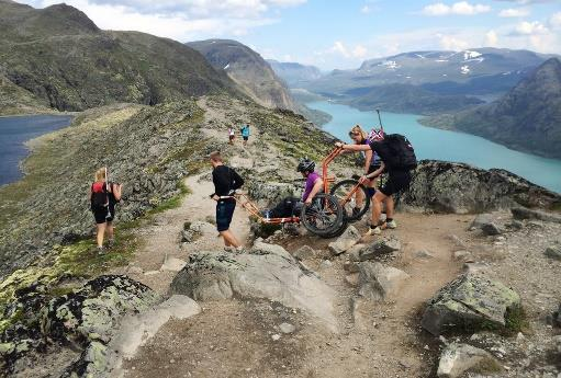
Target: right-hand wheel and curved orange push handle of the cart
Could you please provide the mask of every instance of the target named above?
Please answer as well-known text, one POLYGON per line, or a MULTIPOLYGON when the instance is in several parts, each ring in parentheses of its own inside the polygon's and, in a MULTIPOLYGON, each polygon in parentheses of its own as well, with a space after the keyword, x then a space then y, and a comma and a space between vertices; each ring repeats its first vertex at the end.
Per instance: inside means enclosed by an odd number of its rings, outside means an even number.
POLYGON ((329 190, 329 184, 335 182, 335 177, 328 176, 327 168, 341 151, 343 148, 336 147, 322 162, 322 174, 326 177, 324 179, 324 192, 338 199, 339 205, 344 208, 346 221, 354 222, 368 211, 370 194, 368 188, 356 179, 343 180, 329 190))

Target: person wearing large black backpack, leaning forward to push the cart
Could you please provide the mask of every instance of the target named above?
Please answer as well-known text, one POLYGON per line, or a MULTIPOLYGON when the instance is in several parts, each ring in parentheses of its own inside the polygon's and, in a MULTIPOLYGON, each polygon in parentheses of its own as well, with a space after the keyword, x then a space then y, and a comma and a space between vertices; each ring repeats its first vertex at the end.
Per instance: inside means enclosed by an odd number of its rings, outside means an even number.
POLYGON ((371 149, 382 159, 382 164, 377 171, 361 177, 361 181, 372 179, 382 172, 388 172, 388 181, 375 192, 372 197, 372 219, 367 236, 379 234, 383 228, 396 228, 393 219, 394 201, 393 195, 407 188, 411 183, 411 170, 417 167, 417 159, 413 146, 407 138, 399 134, 385 135, 383 140, 373 140, 370 145, 346 145, 335 144, 344 150, 368 151, 371 149), (382 203, 385 204, 385 221, 380 220, 382 203))

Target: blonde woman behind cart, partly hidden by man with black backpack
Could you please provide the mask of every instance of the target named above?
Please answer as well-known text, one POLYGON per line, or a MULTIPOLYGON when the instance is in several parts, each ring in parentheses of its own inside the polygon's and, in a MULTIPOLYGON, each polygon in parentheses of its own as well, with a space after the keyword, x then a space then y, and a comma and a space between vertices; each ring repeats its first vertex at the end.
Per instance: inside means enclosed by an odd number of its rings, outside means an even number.
MULTIPOLYGON (((367 133, 362 129, 362 127, 360 127, 360 125, 355 125, 349 131, 349 137, 352 139, 352 141, 355 141, 355 145, 359 146, 370 145, 370 141, 372 140, 383 139, 383 131, 372 129, 370 135, 367 135, 367 133)), ((372 150, 367 150, 361 151, 361 153, 364 158, 364 176, 380 169, 382 160, 380 159, 380 156, 377 152, 372 150)), ((371 180, 363 180, 362 183, 364 184, 364 186, 367 186, 370 196, 373 196, 378 184, 378 175, 373 175, 371 177, 372 177, 371 180)), ((352 209, 354 214, 360 213, 360 209, 362 208, 362 203, 364 201, 362 196, 363 194, 361 191, 357 192, 355 198, 356 207, 352 209)))

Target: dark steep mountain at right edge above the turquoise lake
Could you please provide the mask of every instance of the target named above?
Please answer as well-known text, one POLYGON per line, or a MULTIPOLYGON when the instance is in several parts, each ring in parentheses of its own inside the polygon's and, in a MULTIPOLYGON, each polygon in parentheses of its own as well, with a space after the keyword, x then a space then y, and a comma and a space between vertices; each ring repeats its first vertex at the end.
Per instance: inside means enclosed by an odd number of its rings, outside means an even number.
POLYGON ((517 150, 561 158, 561 61, 550 58, 501 99, 429 126, 475 134, 517 150))

